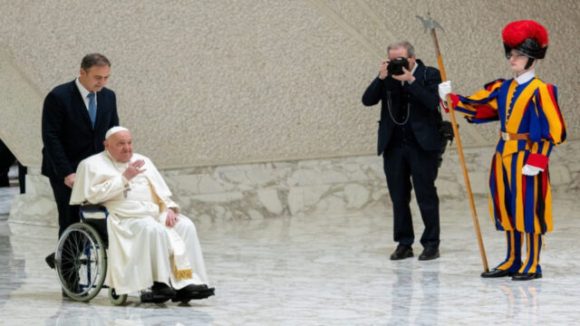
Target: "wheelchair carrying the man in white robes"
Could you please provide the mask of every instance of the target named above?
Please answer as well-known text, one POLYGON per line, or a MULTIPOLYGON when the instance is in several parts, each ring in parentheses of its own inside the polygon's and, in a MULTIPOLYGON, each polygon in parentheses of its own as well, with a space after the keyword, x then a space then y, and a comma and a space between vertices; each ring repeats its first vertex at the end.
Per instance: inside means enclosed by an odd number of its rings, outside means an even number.
MULTIPOLYGON (((55 251, 55 267, 63 293, 77 302, 89 302, 103 287, 107 273, 107 216, 104 206, 85 205, 81 222, 64 230, 55 251)), ((127 294, 109 288, 114 305, 127 302, 127 294)))

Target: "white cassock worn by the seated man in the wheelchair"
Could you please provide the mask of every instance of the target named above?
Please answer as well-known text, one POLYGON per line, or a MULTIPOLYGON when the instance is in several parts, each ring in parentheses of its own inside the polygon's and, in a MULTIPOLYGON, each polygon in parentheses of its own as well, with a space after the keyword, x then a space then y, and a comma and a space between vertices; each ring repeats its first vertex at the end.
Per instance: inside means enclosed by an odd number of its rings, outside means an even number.
POLYGON ((82 160, 74 178, 71 205, 101 204, 109 211, 105 284, 118 294, 144 290, 154 281, 176 290, 208 284, 195 225, 178 214, 150 159, 133 153, 131 160, 137 159, 146 170, 131 181, 122 177, 129 162, 116 161, 106 150, 82 160), (179 216, 173 227, 165 225, 169 207, 179 216))

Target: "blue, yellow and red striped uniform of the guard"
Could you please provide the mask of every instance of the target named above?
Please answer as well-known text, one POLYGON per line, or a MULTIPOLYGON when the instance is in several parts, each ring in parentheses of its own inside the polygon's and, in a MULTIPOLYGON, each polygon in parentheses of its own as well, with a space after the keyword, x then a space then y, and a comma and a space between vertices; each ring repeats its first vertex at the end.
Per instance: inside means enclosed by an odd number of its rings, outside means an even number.
POLYGON ((501 132, 525 138, 498 139, 489 173, 489 209, 497 229, 507 232, 507 259, 498 269, 541 273, 541 238, 553 228, 549 173, 546 166, 536 176, 526 176, 522 168, 531 158, 547 164, 553 147, 565 141, 556 86, 536 76, 522 84, 515 79, 498 80, 469 97, 451 94, 451 100, 470 122, 499 120, 501 132), (524 265, 518 262, 523 241, 518 233, 528 234, 524 265))

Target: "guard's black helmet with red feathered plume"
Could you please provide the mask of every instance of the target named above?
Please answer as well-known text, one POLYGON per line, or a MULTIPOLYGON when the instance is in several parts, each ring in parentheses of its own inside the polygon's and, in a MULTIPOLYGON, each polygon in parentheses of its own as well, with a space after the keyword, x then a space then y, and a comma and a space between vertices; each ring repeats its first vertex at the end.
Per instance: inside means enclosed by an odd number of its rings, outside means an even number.
POLYGON ((516 50, 528 58, 544 59, 547 50, 547 31, 535 21, 509 23, 501 32, 506 56, 516 50))

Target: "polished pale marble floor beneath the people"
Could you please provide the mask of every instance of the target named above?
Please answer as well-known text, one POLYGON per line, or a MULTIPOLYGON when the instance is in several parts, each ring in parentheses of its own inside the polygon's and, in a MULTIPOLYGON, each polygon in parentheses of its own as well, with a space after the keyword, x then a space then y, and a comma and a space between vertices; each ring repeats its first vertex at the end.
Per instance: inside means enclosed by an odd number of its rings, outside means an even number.
MULTIPOLYGON (((4 195, 8 196, 8 195, 4 195)), ((573 325, 580 321, 578 194, 556 194, 556 230, 546 236, 544 278, 481 279, 469 206, 441 204, 441 257, 389 260, 391 213, 295 216, 198 224, 216 296, 186 305, 113 306, 61 298, 43 257, 56 229, 0 218, 2 325, 573 325)), ((477 198, 489 266, 504 255, 502 234, 477 198)), ((413 206, 417 216, 416 206, 413 206)), ((1 215, 2 213, 0 213, 1 215)), ((417 229, 422 229, 415 217, 417 229)))

